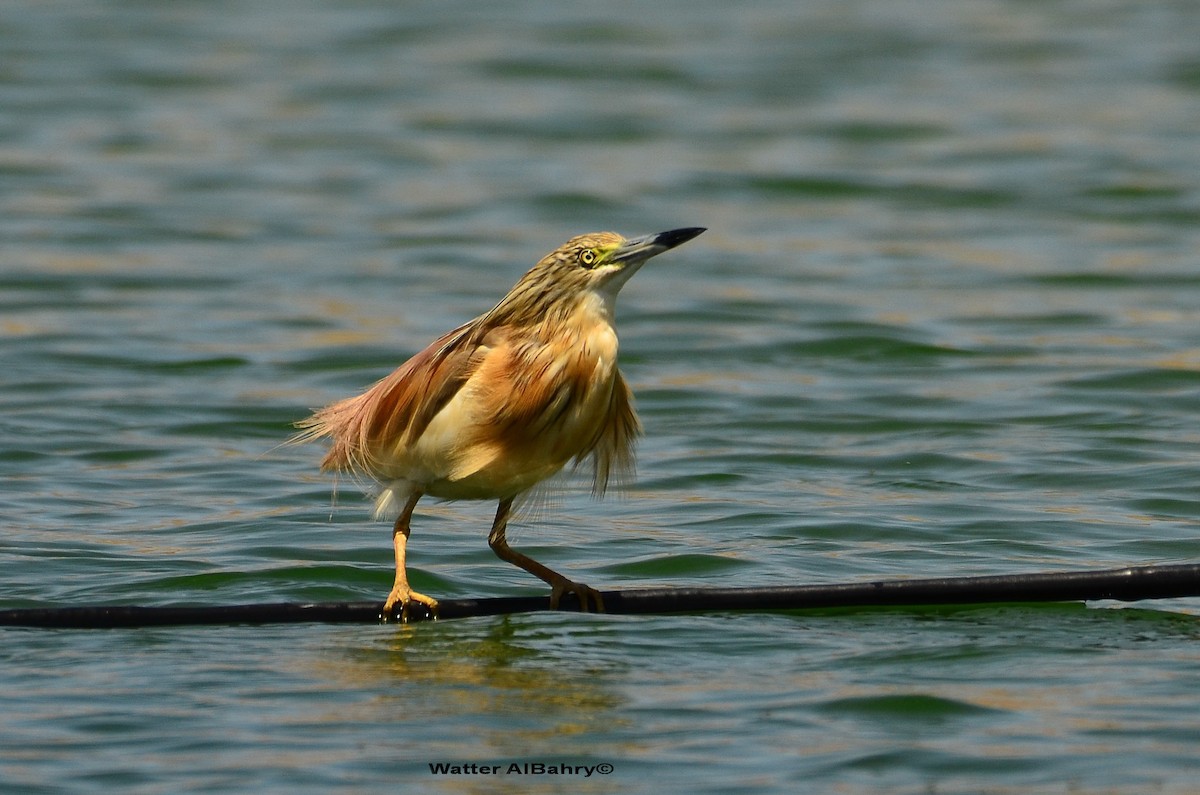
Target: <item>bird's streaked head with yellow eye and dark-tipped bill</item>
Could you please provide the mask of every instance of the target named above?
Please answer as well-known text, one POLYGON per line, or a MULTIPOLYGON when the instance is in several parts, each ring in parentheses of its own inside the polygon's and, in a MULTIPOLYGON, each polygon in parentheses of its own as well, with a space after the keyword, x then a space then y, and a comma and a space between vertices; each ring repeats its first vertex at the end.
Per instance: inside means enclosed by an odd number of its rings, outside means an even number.
POLYGON ((556 309, 570 311, 578 299, 596 297, 611 311, 617 293, 646 261, 703 231, 685 227, 629 239, 614 232, 593 232, 571 238, 542 257, 497 310, 536 317, 556 309))

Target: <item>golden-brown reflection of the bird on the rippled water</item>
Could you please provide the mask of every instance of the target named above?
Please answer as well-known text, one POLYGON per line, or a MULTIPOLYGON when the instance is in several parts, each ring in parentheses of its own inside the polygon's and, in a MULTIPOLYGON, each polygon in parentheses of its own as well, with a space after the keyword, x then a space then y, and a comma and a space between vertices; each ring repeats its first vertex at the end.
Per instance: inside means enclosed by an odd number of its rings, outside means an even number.
POLYGON ((356 719, 395 724, 401 735, 426 722, 461 727, 463 747, 442 747, 443 755, 524 760, 554 741, 548 747, 560 748, 564 761, 577 761, 595 758, 592 737, 628 724, 625 700, 611 685, 629 663, 604 645, 583 627, 551 629, 521 617, 397 626, 337 662, 323 658, 317 673, 376 693, 355 707, 356 719), (480 722, 480 715, 504 719, 480 722))

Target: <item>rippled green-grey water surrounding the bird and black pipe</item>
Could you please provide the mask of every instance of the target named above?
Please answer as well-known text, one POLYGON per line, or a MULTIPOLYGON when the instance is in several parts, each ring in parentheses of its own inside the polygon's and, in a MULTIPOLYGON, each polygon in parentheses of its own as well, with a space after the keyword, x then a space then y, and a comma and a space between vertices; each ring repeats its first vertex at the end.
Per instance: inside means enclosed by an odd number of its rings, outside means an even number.
MULTIPOLYGON (((606 228, 709 232, 622 295, 636 483, 560 484, 518 549, 601 588, 1194 562, 1198 35, 1184 0, 8 2, 0 606, 382 599, 388 526, 289 424, 606 228)), ((422 503, 413 585, 540 592, 492 510, 422 503)), ((2 629, 0 790, 1190 793, 1196 615, 2 629)))

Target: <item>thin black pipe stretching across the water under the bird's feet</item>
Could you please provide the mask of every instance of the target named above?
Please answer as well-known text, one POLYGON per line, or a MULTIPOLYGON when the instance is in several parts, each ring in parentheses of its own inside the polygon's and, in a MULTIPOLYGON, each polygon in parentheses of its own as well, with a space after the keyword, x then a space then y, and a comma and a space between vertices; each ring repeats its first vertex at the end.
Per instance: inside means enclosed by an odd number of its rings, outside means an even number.
MULTIPOLYGON (((637 588, 602 591, 601 594, 607 612, 625 615, 1097 599, 1138 602, 1200 596, 1200 564, 769 588, 637 588)), ((578 610, 578 606, 574 594, 563 597, 562 609, 578 610)), ((378 602, 26 608, 0 610, 0 626, 104 629, 239 623, 377 623, 382 617, 380 609, 378 602)), ((467 618, 538 610, 550 610, 548 597, 443 599, 438 605, 438 617, 467 618)), ((428 618, 424 610, 410 616, 412 621, 428 618)))

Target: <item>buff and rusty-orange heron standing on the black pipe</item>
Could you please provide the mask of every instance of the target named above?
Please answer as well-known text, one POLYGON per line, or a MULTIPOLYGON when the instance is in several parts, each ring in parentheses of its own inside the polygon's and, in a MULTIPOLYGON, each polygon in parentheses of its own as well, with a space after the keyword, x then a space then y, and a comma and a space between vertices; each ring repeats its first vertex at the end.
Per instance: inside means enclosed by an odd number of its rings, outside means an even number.
POLYGON ((437 617, 437 599, 409 586, 406 567, 413 512, 425 496, 496 500, 492 551, 550 585, 552 609, 574 593, 583 611, 604 611, 599 591, 512 549, 505 531, 514 503, 568 464, 590 460, 596 497, 610 479, 631 474, 642 424, 617 366, 617 294, 648 259, 704 231, 574 237, 491 310, 361 394, 295 423, 293 442, 329 440, 323 472, 370 485, 376 519, 398 510, 384 621, 398 606, 407 622, 415 604, 437 617))

